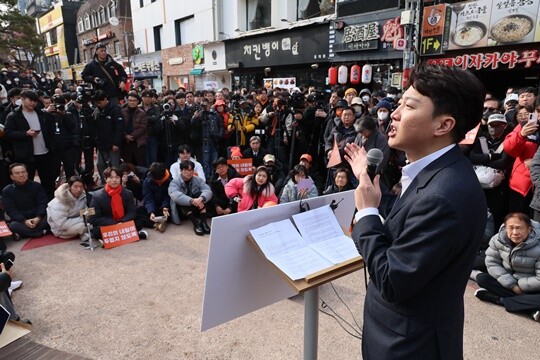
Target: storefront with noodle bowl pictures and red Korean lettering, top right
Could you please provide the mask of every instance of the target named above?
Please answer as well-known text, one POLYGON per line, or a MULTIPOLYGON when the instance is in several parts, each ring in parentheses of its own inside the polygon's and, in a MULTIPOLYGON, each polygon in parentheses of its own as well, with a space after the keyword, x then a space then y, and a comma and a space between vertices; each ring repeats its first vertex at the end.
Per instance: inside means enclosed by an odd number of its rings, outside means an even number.
POLYGON ((473 71, 502 100, 507 88, 539 86, 540 0, 477 0, 424 9, 423 61, 473 71))

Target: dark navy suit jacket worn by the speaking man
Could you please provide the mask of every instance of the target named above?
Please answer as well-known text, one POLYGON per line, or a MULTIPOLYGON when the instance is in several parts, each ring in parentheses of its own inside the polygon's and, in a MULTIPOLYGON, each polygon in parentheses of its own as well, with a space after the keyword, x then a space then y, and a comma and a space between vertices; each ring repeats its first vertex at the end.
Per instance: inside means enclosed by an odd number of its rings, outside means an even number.
POLYGON ((482 188, 455 146, 418 174, 384 224, 358 221, 352 236, 370 275, 364 359, 463 358, 463 294, 486 218, 482 188))

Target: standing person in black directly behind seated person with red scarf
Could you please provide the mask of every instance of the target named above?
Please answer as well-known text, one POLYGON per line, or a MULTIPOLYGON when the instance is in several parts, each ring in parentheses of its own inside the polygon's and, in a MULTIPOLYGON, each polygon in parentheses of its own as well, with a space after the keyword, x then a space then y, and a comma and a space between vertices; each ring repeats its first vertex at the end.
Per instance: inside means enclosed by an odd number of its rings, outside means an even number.
POLYGON ((97 166, 99 175, 104 181, 103 170, 120 164, 120 147, 125 131, 124 118, 120 106, 109 101, 103 90, 96 91, 92 100, 96 104, 93 119, 98 150, 97 166))

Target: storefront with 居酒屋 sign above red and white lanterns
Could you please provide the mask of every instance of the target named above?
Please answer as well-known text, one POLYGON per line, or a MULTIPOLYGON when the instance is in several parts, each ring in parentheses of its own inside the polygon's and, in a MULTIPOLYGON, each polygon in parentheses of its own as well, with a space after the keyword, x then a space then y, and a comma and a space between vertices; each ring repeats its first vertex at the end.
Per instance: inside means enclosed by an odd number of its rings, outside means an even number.
POLYGON ((405 47, 404 29, 400 23, 401 10, 346 17, 343 14, 348 12, 338 9, 338 18, 330 30, 330 60, 336 67, 346 66, 350 74, 345 83, 339 83, 371 90, 389 86, 400 88, 405 47), (362 76, 362 81, 358 81, 351 74, 354 66, 361 67, 363 73, 368 72, 368 76, 362 76))

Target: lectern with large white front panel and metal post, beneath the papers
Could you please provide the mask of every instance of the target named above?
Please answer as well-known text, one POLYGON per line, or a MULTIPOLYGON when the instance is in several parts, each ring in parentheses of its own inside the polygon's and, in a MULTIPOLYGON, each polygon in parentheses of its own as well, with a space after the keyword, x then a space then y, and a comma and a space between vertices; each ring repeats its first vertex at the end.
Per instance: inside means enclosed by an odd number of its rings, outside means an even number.
MULTIPOLYGON (((303 200, 311 209, 335 208, 342 228, 347 229, 354 213, 354 190, 303 200), (338 204, 336 207, 335 205, 338 204)), ((317 358, 318 287, 362 268, 363 262, 339 266, 332 271, 292 281, 261 257, 246 237, 251 229, 289 219, 299 212, 291 202, 212 219, 201 331, 226 323, 299 293, 305 295, 304 357, 317 358)))

